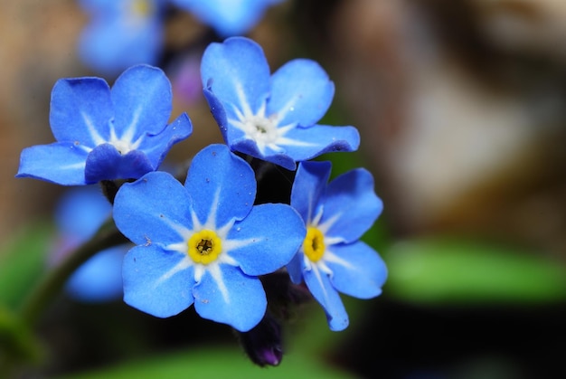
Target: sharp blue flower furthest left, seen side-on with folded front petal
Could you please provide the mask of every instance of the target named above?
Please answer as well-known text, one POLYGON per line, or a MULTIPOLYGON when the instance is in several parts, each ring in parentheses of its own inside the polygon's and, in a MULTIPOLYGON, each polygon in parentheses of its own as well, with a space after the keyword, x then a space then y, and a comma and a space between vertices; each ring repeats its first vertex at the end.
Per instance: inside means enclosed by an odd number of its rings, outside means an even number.
POLYGON ((61 79, 50 114, 58 142, 25 148, 16 176, 87 185, 155 171, 193 131, 186 114, 167 125, 171 109, 171 84, 155 67, 124 71, 112 90, 99 78, 61 79))

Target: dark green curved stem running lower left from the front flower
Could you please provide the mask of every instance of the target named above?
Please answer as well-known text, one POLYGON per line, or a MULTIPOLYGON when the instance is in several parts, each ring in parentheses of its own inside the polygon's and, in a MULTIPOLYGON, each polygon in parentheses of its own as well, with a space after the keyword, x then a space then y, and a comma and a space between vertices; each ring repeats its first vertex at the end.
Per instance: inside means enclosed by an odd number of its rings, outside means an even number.
POLYGON ((20 308, 19 313, 22 322, 32 326, 41 316, 42 310, 61 292, 72 272, 77 270, 82 263, 99 251, 125 242, 127 242, 127 239, 118 232, 114 221, 109 218, 100 226, 99 231, 90 241, 80 245, 75 251, 67 255, 57 267, 45 274, 20 308))

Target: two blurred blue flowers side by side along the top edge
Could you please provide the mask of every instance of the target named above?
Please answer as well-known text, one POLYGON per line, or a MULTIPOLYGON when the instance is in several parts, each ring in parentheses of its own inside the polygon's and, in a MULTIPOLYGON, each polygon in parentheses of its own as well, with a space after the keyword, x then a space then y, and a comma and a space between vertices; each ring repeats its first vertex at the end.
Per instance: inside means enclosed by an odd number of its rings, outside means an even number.
POLYGON ((90 23, 80 35, 80 58, 114 74, 162 56, 167 8, 190 12, 222 38, 247 33, 270 5, 281 0, 80 0, 90 23))

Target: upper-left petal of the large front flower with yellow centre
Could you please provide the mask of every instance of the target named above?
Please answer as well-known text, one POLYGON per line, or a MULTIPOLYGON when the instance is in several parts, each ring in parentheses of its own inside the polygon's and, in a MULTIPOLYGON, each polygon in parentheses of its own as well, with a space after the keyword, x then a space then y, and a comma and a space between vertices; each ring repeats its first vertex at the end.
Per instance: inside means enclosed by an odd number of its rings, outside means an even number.
POLYGON ((179 228, 191 230, 191 203, 186 189, 165 172, 149 173, 122 185, 114 200, 114 221, 138 245, 183 242, 179 228))

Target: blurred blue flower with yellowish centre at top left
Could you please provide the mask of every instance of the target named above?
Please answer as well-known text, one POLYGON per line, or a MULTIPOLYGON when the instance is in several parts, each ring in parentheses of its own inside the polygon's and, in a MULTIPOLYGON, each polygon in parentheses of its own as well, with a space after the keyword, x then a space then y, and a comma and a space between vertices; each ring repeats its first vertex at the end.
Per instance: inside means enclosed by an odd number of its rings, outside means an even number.
POLYGON ((91 20, 79 52, 90 68, 117 74, 127 67, 156 64, 163 44, 163 0, 81 0, 91 20))

